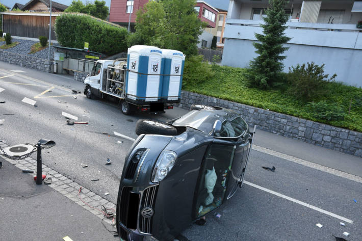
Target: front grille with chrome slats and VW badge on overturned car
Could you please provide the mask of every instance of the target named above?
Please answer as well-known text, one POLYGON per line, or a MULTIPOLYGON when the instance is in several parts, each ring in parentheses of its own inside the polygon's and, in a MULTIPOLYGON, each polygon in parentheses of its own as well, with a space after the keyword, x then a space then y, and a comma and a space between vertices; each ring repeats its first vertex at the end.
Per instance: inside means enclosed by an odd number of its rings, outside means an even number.
POLYGON ((156 201, 158 187, 158 185, 151 186, 150 188, 145 189, 142 194, 139 213, 139 230, 143 233, 152 233, 152 217, 155 212, 154 203, 156 201), (145 217, 143 215, 143 210, 146 209, 151 209, 153 211, 150 217, 145 217))

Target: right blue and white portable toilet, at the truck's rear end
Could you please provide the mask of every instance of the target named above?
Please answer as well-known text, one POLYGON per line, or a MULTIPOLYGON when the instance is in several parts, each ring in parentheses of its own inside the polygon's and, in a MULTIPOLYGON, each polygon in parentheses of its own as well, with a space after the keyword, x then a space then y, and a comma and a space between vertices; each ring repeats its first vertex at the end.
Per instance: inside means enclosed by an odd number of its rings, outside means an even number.
POLYGON ((162 98, 177 100, 181 97, 185 55, 177 50, 162 49, 162 58, 164 59, 162 98))

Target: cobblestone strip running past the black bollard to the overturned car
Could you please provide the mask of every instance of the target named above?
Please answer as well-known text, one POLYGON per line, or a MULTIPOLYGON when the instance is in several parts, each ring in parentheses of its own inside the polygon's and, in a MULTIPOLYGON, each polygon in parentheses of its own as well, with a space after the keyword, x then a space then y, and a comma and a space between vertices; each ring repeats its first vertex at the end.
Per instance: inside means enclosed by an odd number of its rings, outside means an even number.
MULTIPOLYGON (((8 147, 8 145, 2 143, 0 145, 1 147, 5 148, 8 147)), ((0 155, 1 156, 1 155, 0 155)), ((33 177, 36 176, 36 165, 37 161, 31 157, 27 157, 23 160, 12 160, 7 157, 2 156, 3 159, 7 160, 9 163, 13 164, 15 167, 19 169, 31 169, 34 170, 34 173, 30 173, 33 177)), ((48 168, 46 165, 42 165, 42 173, 43 175, 46 175, 46 177, 51 178, 51 184, 48 184, 50 188, 54 189, 55 191, 63 194, 65 197, 72 200, 74 203, 82 206, 83 208, 87 209, 91 213, 93 213, 95 216, 97 216, 100 219, 104 218, 104 215, 101 211, 98 211, 94 208, 89 207, 93 206, 101 210, 101 205, 104 205, 107 209, 113 209, 110 210, 112 212, 116 212, 116 205, 112 202, 109 202, 108 200, 100 197, 99 195, 96 195, 95 193, 91 192, 89 189, 86 189, 82 187, 82 191, 80 193, 81 198, 83 201, 87 202, 85 204, 82 202, 82 200, 78 196, 79 189, 81 187, 80 184, 72 181, 71 179, 63 176, 62 174, 58 173, 57 171, 48 168)), ((112 224, 112 220, 105 219, 105 222, 108 224, 112 224)))

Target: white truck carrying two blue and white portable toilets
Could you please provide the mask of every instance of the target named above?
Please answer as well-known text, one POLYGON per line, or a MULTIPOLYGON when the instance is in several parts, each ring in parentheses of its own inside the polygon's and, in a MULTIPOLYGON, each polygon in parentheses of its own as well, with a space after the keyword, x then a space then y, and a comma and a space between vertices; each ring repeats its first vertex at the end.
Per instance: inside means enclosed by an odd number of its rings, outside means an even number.
POLYGON ((127 59, 98 60, 84 81, 84 94, 115 97, 125 115, 165 113, 180 101, 184 63, 180 51, 136 45, 128 48, 127 59))

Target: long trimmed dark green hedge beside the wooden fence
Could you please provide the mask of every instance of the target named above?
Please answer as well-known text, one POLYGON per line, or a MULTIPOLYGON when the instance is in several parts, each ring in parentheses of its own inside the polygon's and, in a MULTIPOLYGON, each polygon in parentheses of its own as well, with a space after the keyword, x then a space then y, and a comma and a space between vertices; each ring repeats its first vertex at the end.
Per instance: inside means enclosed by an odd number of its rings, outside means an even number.
POLYGON ((89 43, 89 50, 114 55, 127 50, 127 30, 90 16, 62 14, 55 22, 58 42, 64 47, 84 48, 89 43))

